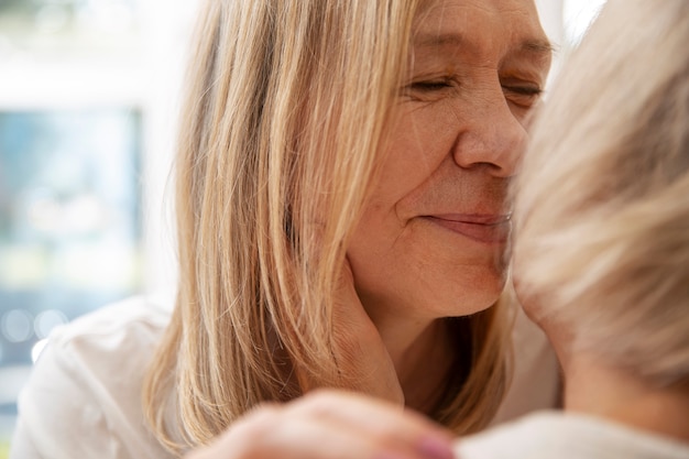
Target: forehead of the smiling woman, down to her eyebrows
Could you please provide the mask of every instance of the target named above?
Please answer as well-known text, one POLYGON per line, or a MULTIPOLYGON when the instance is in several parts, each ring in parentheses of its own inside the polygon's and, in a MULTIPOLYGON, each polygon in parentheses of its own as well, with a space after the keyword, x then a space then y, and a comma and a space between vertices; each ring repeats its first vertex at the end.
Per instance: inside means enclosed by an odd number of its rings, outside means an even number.
POLYGON ((431 1, 416 18, 414 47, 482 57, 525 53, 547 58, 551 51, 533 0, 431 1))

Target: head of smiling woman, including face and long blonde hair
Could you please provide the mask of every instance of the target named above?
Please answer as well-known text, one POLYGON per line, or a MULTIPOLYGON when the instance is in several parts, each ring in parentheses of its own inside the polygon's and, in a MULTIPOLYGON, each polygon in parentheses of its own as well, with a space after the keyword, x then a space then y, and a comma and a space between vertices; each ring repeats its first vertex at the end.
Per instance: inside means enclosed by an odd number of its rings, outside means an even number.
POLYGON ((349 263, 376 326, 467 316, 429 414, 484 426, 506 381, 506 312, 490 308, 504 199, 550 64, 534 2, 211 0, 201 18, 176 161, 179 293, 151 405, 175 386, 182 430, 204 441, 299 395, 295 368, 356 378, 331 350, 349 263))

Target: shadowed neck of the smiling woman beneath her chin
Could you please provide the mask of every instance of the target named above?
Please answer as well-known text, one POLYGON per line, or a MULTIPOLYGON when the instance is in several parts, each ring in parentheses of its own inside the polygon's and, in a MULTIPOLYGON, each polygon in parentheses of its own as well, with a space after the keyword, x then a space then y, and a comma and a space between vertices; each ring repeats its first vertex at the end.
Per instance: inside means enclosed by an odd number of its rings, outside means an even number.
POLYGON ((453 361, 446 321, 371 315, 391 356, 405 405, 430 414, 453 361))

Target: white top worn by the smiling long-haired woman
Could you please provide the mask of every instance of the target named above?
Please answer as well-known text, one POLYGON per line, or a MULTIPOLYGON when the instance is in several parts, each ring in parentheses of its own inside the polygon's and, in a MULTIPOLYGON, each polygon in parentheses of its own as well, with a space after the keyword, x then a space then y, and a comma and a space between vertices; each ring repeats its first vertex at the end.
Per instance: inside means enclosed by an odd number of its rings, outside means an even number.
MULTIPOLYGON (((11 459, 171 458, 145 426, 143 375, 172 302, 132 298, 55 329, 19 397, 11 459)), ((515 380, 497 419, 553 407, 558 374, 549 346, 523 317, 515 380)))

